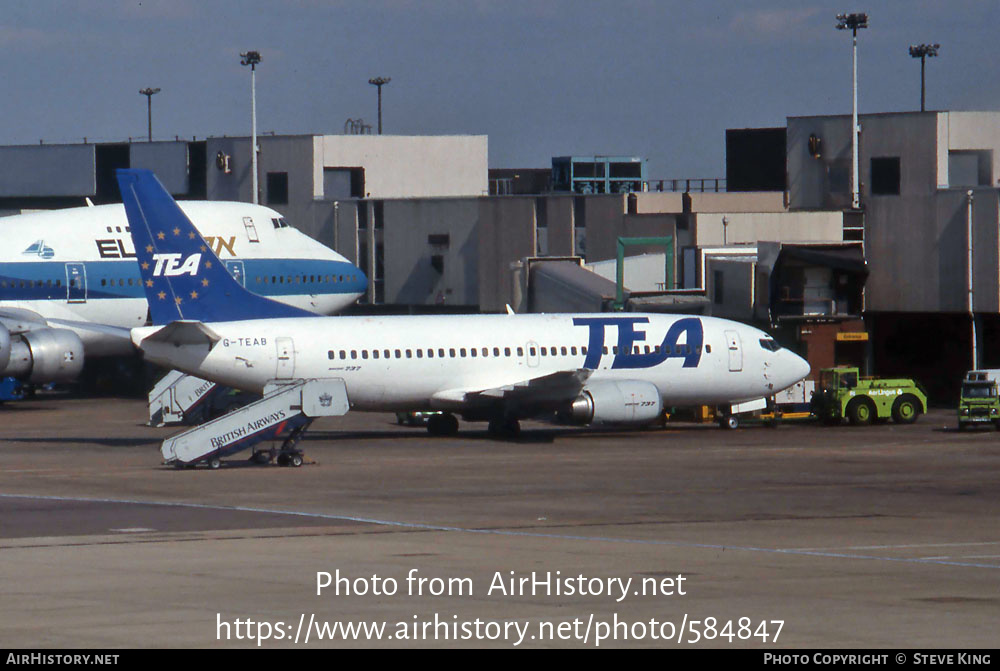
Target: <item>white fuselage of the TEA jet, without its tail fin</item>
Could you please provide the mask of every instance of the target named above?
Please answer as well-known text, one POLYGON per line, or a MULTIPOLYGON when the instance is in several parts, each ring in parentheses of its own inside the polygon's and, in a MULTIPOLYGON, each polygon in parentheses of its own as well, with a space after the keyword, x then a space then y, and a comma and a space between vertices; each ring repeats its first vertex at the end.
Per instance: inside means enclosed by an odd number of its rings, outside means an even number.
POLYGON ((773 343, 766 333, 712 317, 334 317, 206 326, 221 338, 211 349, 143 342, 159 327, 134 329, 132 338, 155 363, 245 390, 275 379, 342 378, 357 410, 445 408, 463 391, 582 368, 593 370, 588 384, 650 382, 665 404, 721 404, 770 396, 809 372, 794 353, 764 347, 773 343), (682 319, 698 323, 700 348, 689 342, 697 340, 693 331, 668 336, 682 319))

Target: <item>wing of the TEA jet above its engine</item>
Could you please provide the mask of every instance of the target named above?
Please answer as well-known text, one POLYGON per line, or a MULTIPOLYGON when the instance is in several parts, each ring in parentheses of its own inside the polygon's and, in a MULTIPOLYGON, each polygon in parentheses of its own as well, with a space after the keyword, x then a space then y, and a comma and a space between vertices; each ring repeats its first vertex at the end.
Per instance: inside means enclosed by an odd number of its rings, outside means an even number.
POLYGON ((468 408, 497 404, 546 406, 572 401, 594 371, 579 368, 489 389, 448 389, 431 396, 435 407, 468 408))

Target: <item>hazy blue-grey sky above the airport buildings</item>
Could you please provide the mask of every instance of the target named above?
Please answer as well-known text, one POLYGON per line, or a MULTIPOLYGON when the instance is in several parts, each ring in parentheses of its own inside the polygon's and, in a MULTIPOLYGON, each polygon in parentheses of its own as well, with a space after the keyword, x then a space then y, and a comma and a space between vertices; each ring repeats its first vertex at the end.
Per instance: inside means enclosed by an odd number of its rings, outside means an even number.
POLYGON ((850 34, 867 11, 860 110, 1000 110, 996 0, 8 0, 0 14, 0 144, 339 133, 487 134, 491 167, 628 154, 651 178, 725 172, 725 130, 850 112, 850 34))

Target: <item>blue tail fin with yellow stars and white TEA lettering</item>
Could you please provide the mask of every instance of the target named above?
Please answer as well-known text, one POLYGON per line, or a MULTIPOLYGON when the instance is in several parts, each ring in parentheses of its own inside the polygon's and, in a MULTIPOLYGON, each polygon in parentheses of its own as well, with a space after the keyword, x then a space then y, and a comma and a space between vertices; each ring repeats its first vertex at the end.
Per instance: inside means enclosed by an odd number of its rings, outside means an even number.
POLYGON ((153 324, 315 317, 247 291, 149 170, 116 170, 153 324))

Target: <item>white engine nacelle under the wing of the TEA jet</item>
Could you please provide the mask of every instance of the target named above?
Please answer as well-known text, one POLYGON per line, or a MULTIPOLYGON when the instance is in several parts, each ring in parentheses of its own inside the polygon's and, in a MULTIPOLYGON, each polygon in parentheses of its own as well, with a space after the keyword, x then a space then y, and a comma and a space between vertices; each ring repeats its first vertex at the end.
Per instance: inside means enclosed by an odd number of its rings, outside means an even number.
POLYGON ((598 382, 587 385, 570 406, 581 424, 648 424, 660 417, 663 399, 649 382, 598 382))

